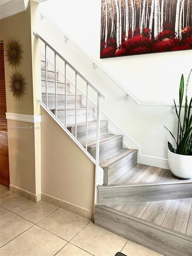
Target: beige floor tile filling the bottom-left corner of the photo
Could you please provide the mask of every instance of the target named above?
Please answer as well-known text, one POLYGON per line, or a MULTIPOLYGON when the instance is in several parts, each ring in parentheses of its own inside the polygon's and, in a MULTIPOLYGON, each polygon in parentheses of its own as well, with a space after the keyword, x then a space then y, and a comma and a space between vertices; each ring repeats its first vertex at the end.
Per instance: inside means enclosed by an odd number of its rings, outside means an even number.
POLYGON ((66 241, 34 225, 0 248, 3 256, 53 256, 66 241))

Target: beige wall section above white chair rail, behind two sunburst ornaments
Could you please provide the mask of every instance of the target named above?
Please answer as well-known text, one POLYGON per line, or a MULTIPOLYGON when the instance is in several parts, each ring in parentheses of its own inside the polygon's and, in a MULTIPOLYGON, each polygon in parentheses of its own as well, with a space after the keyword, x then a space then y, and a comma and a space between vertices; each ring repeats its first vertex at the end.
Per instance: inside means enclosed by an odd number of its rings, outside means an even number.
MULTIPOLYGON (((13 98, 13 93, 10 92, 9 81, 12 72, 15 72, 15 68, 8 66, 8 62, 5 61, 5 84, 6 84, 6 99, 7 99, 7 112, 18 114, 33 115, 33 84, 32 84, 32 50, 31 50, 31 13, 30 3, 26 11, 19 14, 7 17, 0 20, 0 38, 4 42, 4 49, 8 40, 11 38, 18 40, 22 44, 23 59, 21 59, 21 65, 17 67, 17 71, 23 73, 26 77, 26 95, 20 101, 13 98)), ((6 59, 6 57, 5 57, 6 59)))

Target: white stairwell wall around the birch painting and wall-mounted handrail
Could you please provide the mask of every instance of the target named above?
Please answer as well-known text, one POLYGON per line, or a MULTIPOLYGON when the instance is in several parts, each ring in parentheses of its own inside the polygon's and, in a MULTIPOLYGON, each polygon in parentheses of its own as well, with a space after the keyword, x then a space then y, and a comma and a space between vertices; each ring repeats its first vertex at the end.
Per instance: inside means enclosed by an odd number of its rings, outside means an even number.
MULTIPOLYGON (((178 99, 181 74, 186 80, 192 68, 192 50, 100 59, 101 0, 46 1, 40 8, 140 102, 173 104, 173 97, 178 99)), ((46 39, 108 96, 102 109, 141 146, 139 161, 168 167, 167 140, 172 139, 163 126, 173 133, 177 130, 171 108, 126 101, 125 93, 98 69, 92 69, 92 63, 71 43, 64 43, 64 37, 54 40, 47 32, 46 39)))

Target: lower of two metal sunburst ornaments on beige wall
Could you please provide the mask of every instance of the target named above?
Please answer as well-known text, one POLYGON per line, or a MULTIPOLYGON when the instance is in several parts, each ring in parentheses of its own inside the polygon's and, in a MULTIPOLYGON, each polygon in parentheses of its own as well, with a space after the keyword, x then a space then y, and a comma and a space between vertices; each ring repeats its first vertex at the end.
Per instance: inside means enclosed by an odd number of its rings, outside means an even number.
POLYGON ((9 81, 10 83, 9 87, 11 88, 10 92, 13 93, 13 97, 15 96, 16 99, 19 98, 20 100, 20 97, 23 98, 23 95, 25 94, 25 90, 26 90, 25 85, 27 84, 25 82, 26 77, 23 77, 23 73, 21 74, 18 71, 15 73, 12 72, 12 75, 10 75, 10 78, 11 78, 9 81))

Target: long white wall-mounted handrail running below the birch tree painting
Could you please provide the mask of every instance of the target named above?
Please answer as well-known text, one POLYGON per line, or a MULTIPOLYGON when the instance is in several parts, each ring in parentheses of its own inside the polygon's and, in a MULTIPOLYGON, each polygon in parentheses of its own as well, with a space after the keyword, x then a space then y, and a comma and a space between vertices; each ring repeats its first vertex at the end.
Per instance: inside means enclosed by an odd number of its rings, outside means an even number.
MULTIPOLYGON (((74 44, 82 53, 84 53, 94 64, 94 67, 98 67, 99 69, 101 69, 114 83, 116 83, 127 95, 130 96, 131 99, 133 99, 137 104, 139 105, 149 105, 149 106, 160 106, 160 107, 171 107, 171 108, 175 108, 174 105, 169 105, 169 104, 160 104, 160 103, 144 103, 144 102, 140 102, 133 94, 131 94, 124 86, 122 86, 122 84, 120 84, 112 75, 110 75, 98 62, 96 62, 85 50, 83 50, 75 41, 73 41, 72 38, 70 38, 65 32, 62 31, 61 28, 59 28, 59 26, 57 26, 52 20, 50 20, 43 12, 40 13, 41 15, 41 19, 43 19, 43 17, 48 20, 59 32, 61 32, 61 34, 64 35, 66 42, 68 40, 70 40, 70 42, 72 44, 74 44)), ((179 106, 177 106, 179 107, 179 106)), ((184 107, 184 106, 182 106, 184 107)))

